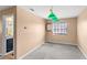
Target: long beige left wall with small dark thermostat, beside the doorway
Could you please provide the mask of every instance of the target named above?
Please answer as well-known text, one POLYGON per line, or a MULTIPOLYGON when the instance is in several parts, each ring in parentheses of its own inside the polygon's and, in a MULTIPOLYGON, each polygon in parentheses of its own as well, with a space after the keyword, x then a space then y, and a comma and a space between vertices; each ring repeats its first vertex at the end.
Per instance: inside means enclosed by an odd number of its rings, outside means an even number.
POLYGON ((19 58, 44 43, 45 23, 43 19, 21 7, 18 7, 17 14, 17 58, 19 58))

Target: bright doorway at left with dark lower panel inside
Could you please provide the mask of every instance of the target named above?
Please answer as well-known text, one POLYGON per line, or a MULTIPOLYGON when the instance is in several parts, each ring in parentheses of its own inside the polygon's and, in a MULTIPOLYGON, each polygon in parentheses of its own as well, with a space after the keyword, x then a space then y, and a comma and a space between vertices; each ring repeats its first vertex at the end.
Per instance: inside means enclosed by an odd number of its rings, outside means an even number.
POLYGON ((2 56, 14 58, 14 15, 2 15, 2 56))

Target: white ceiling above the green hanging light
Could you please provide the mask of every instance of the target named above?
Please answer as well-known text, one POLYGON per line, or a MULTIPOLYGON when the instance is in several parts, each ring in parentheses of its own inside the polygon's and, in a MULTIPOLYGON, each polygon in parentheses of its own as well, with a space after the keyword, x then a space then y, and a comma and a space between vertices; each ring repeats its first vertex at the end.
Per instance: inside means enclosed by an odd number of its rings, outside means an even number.
MULTIPOLYGON (((46 18, 50 13, 50 6, 22 6, 30 10, 33 9, 33 13, 39 17, 46 18)), ((54 6, 53 11, 59 18, 74 18, 77 17, 87 6, 54 6)))

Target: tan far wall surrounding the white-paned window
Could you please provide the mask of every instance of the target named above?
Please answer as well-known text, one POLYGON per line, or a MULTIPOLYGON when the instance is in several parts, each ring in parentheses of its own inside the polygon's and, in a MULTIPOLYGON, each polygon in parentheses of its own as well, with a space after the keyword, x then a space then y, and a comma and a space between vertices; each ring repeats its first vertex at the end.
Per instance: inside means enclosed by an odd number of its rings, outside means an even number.
POLYGON ((68 29, 66 35, 53 35, 52 32, 46 32, 46 42, 73 44, 77 43, 77 18, 61 19, 67 22, 68 29))

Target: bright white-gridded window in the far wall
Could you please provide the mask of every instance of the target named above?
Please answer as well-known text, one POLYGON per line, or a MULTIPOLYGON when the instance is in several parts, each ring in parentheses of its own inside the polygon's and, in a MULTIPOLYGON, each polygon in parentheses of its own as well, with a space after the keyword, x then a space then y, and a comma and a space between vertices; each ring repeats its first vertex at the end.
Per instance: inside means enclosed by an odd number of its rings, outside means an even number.
POLYGON ((53 34, 67 34, 67 23, 66 22, 58 22, 58 23, 53 23, 52 28, 53 34))

